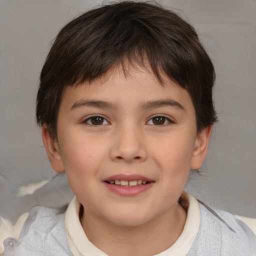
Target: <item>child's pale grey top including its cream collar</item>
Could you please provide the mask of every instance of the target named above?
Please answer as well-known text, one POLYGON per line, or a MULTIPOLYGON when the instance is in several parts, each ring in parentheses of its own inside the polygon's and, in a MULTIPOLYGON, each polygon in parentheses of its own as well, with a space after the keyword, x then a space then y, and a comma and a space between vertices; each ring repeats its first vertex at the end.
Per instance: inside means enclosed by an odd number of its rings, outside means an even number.
MULTIPOLYGON (((157 256, 256 256, 256 236, 232 214, 212 210, 184 193, 187 219, 176 242, 157 256)), ((181 200, 182 201, 182 200, 181 200)), ((19 239, 4 240, 3 256, 106 256, 86 237, 76 198, 65 208, 34 206, 19 239)))

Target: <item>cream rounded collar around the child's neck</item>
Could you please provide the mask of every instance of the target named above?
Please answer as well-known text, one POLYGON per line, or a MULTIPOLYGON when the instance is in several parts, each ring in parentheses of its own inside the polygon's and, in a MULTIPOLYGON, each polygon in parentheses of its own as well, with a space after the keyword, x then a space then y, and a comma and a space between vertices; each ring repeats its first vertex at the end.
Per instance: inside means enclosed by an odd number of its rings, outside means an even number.
MULTIPOLYGON (((168 249, 154 256, 185 256, 195 240, 200 225, 199 203, 191 194, 183 191, 180 204, 187 211, 183 231, 168 249)), ((71 252, 74 256, 107 256, 91 243, 84 233, 79 220, 80 206, 81 203, 74 196, 65 213, 65 227, 71 252)))

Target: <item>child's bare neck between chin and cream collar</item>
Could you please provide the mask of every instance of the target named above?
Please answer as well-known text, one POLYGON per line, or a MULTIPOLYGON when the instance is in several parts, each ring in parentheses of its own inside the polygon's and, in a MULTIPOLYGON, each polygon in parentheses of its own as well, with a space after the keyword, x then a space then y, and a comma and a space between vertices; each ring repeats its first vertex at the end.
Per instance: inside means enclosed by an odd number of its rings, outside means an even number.
POLYGON ((158 254, 177 240, 185 220, 186 211, 178 203, 136 226, 116 225, 86 209, 80 218, 88 239, 109 256, 158 254))

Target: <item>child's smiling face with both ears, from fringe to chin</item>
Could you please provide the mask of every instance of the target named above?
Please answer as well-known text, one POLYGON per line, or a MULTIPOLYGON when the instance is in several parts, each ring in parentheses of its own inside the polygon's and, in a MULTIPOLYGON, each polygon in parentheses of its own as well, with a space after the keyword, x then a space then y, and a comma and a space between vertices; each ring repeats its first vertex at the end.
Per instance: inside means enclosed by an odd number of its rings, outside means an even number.
POLYGON ((64 90, 51 152, 44 128, 43 139, 53 169, 65 170, 85 212, 138 225, 177 207, 209 135, 197 134, 187 91, 165 80, 162 86, 146 71, 116 71, 64 90), (134 185, 141 180, 146 184, 134 185))

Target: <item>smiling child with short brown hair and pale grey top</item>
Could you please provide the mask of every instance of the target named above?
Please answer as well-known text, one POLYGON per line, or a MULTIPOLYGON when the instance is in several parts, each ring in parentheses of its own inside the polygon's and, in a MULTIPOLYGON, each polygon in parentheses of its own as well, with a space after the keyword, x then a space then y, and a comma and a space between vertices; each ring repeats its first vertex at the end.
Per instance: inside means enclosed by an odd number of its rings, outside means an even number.
POLYGON ((57 35, 36 118, 75 197, 35 206, 3 255, 256 255, 242 221, 183 192, 206 155, 214 68, 175 13, 123 1, 57 35))

